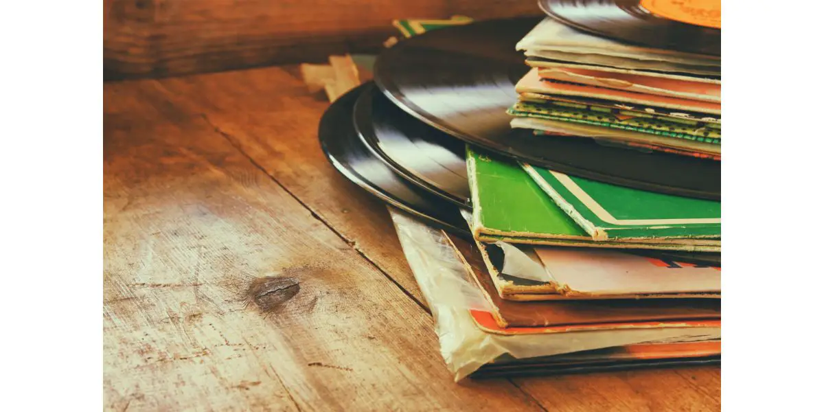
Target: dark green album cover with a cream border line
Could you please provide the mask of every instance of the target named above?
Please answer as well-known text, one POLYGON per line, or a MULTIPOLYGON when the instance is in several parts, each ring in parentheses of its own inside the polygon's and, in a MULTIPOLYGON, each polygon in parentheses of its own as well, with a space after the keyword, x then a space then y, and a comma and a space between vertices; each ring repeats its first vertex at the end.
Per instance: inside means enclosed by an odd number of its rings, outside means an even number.
POLYGON ((721 237, 721 202, 631 189, 522 165, 597 241, 721 237))

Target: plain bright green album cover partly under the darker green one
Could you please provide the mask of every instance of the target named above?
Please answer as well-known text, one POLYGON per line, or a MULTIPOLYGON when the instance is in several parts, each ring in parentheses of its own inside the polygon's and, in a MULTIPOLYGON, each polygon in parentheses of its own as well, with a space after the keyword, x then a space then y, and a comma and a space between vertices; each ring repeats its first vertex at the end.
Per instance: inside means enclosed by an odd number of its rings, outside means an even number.
POLYGON ((717 239, 596 241, 517 163, 467 147, 472 232, 482 241, 557 246, 719 251, 717 239))

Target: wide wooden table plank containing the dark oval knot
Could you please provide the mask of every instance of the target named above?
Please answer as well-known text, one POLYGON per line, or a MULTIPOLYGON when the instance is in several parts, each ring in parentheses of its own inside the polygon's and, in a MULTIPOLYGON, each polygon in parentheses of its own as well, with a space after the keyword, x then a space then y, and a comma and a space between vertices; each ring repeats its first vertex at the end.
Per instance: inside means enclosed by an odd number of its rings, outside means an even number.
POLYGON ((426 312, 199 112, 104 97, 105 410, 540 410, 453 384, 426 312))

